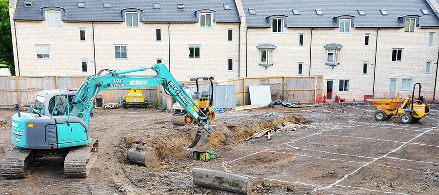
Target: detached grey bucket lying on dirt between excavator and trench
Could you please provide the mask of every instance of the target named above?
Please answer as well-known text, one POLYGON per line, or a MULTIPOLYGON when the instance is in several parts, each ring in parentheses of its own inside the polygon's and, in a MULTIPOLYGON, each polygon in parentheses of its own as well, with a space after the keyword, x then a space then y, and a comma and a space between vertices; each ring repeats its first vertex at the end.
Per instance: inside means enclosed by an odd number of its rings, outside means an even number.
POLYGON ((149 146, 149 143, 145 143, 143 141, 140 144, 134 144, 130 149, 128 149, 128 160, 134 164, 147 167, 159 165, 160 161, 156 156, 156 150, 149 146))

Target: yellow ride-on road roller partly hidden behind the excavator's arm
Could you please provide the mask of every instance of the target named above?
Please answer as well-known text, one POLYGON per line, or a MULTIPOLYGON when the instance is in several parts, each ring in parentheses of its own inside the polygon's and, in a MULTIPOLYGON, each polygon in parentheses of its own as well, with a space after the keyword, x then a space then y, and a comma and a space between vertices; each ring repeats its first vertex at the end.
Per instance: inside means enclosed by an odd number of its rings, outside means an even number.
MULTIPOLYGON (((201 115, 200 112, 203 112, 204 115, 209 117, 209 123, 212 123, 215 120, 215 113, 212 110, 212 98, 213 98, 213 81, 212 78, 209 77, 200 77, 195 79, 195 83, 197 86, 197 91, 192 94, 192 99, 197 104, 196 109, 198 113, 201 115), (199 79, 203 80, 209 80, 211 85, 211 93, 209 94, 208 91, 203 90, 200 93, 200 85, 198 83, 199 79)), ((191 117, 184 109, 181 107, 179 103, 174 103, 172 105, 172 117, 171 122, 175 125, 188 125, 193 124, 195 119, 191 117)))

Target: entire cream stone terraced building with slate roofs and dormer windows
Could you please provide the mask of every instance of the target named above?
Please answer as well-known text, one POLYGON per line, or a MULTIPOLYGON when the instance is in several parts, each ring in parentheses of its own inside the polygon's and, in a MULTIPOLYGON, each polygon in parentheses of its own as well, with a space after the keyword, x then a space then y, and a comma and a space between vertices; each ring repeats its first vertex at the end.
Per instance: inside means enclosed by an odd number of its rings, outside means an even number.
POLYGON ((328 100, 436 91, 436 0, 10 2, 21 76, 162 62, 180 81, 321 76, 328 100))

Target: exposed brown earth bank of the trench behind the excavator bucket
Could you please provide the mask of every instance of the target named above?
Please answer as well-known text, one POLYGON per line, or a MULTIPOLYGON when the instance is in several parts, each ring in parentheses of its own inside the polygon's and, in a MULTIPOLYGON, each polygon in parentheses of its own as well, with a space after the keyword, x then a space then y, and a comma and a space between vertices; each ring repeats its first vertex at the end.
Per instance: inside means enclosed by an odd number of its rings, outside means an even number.
MULTIPOLYGON (((274 128, 278 124, 285 122, 291 123, 310 123, 303 117, 265 117, 255 116, 248 119, 216 121, 213 125, 213 133, 210 135, 211 148, 221 147, 230 144, 242 144, 247 137, 252 136, 263 129, 274 128)), ((165 133, 151 136, 145 131, 133 130, 131 133, 121 137, 119 147, 119 158, 123 162, 127 162, 126 150, 133 144, 139 144, 142 140, 151 143, 151 147, 155 148, 156 155, 160 160, 166 158, 181 158, 187 155, 187 151, 183 150, 184 146, 189 145, 195 137, 197 130, 195 125, 176 126, 166 130, 165 133)), ((152 130, 154 131, 154 130, 152 130)), ((160 128, 158 132, 163 132, 160 128)))

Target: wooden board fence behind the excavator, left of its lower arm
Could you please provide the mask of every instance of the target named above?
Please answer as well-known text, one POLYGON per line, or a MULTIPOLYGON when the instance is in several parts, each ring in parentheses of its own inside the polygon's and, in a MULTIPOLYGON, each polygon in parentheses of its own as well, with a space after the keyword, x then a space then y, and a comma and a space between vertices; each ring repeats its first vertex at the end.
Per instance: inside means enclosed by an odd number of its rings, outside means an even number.
MULTIPOLYGON (((34 104, 38 92, 49 89, 78 89, 88 77, 0 77, 0 105, 10 106, 18 104, 34 104)), ((157 103, 157 87, 136 88, 142 91, 145 99, 150 103, 157 103)), ((120 102, 130 89, 105 90, 102 95, 103 102, 120 102)))

